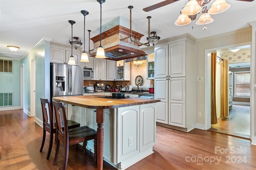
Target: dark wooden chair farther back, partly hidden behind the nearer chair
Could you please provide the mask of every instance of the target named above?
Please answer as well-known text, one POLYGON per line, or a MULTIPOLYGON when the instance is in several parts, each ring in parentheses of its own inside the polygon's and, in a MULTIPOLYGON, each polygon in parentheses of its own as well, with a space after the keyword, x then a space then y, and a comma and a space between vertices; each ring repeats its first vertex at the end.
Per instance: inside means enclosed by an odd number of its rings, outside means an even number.
MULTIPOLYGON (((52 151, 52 142, 53 142, 54 133, 55 133, 55 140, 56 140, 56 123, 53 122, 53 114, 52 114, 52 109, 51 109, 49 100, 40 98, 40 101, 41 101, 42 113, 43 113, 43 140, 42 140, 40 152, 42 152, 43 150, 46 131, 47 131, 50 133, 50 141, 49 141, 49 147, 48 147, 46 159, 49 159, 52 151)), ((68 129, 80 127, 80 123, 77 123, 75 121, 68 120, 67 122, 68 122, 68 129)))

